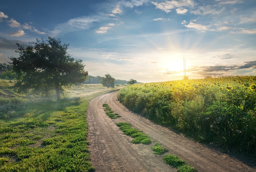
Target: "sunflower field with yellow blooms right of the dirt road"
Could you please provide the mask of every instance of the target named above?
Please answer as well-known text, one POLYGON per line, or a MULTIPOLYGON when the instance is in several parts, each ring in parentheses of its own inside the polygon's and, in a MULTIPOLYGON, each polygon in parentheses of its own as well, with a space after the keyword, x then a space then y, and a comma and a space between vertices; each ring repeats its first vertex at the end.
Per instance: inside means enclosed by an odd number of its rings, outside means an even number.
POLYGON ((197 141, 256 157, 256 76, 134 84, 118 100, 197 141))

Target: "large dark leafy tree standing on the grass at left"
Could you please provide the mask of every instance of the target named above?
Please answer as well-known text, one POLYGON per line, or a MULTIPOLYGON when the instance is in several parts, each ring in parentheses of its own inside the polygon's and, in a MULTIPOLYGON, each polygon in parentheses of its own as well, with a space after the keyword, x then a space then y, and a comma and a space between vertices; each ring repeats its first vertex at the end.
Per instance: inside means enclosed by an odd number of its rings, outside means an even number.
POLYGON ((68 44, 61 44, 60 39, 48 37, 18 45, 19 57, 10 57, 14 72, 18 74, 16 87, 20 91, 32 89, 44 96, 56 91, 56 99, 60 100, 60 90, 64 85, 82 83, 88 72, 84 70, 81 59, 74 59, 67 54, 68 44))

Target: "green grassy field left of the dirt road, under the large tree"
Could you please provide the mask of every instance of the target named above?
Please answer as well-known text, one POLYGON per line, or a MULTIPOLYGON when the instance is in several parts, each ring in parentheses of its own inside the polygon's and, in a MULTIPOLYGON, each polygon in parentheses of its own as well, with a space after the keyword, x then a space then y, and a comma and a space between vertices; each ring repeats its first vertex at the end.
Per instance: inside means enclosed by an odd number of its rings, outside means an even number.
POLYGON ((86 111, 92 98, 113 89, 76 85, 55 101, 18 97, 12 84, 0 81, 0 172, 94 171, 86 111))

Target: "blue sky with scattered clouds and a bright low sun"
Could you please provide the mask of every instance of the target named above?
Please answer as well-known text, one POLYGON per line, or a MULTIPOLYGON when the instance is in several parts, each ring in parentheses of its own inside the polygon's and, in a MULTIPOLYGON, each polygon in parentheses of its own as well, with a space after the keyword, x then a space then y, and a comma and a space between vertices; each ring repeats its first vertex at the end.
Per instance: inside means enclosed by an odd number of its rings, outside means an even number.
POLYGON ((61 39, 91 76, 164 82, 256 75, 255 0, 8 0, 0 63, 16 43, 61 39))

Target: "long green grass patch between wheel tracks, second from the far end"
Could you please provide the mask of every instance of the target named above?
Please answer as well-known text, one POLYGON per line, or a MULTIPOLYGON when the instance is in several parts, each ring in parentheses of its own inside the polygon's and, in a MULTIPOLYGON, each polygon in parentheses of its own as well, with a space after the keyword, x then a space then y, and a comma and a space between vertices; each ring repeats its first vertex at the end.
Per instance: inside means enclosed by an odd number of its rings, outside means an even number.
POLYGON ((144 134, 142 131, 132 128, 130 123, 119 122, 116 125, 119 126, 119 128, 121 129, 121 131, 124 132, 125 135, 129 135, 132 138, 134 138, 132 140, 132 143, 134 144, 140 144, 140 143, 150 144, 151 143, 150 138, 146 134, 144 134))

